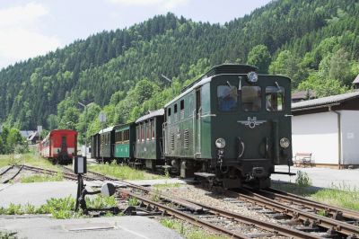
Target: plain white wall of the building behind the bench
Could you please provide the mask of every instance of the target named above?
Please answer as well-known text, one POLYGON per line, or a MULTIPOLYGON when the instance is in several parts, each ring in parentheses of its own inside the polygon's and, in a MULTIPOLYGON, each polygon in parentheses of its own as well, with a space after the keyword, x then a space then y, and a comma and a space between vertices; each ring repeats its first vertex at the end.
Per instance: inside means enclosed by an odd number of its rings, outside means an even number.
MULTIPOLYGON (((341 114, 341 164, 359 165, 359 111, 341 114)), ((292 120, 293 155, 312 153, 317 165, 338 165, 337 114, 333 111, 297 115, 292 120)))

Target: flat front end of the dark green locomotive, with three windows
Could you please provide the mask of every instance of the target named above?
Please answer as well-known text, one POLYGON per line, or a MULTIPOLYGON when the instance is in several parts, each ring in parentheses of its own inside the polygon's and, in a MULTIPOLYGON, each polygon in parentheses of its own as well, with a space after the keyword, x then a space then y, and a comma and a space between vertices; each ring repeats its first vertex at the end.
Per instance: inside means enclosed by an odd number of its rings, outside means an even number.
POLYGON ((274 165, 291 162, 290 80, 279 75, 215 75, 211 80, 210 167, 227 187, 270 185, 274 165))

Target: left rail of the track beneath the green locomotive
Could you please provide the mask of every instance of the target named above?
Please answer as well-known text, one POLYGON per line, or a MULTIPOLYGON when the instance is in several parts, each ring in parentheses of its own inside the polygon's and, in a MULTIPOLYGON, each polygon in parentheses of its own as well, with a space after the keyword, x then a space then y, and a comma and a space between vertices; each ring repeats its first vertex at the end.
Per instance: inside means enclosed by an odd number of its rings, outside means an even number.
POLYGON ((272 210, 291 216, 293 218, 298 218, 302 221, 310 220, 313 225, 321 226, 327 229, 332 229, 340 234, 349 235, 349 236, 359 235, 359 226, 353 226, 335 219, 322 217, 320 215, 316 215, 309 212, 304 212, 300 209, 290 208, 284 204, 279 203, 276 200, 268 199, 250 190, 243 189, 242 191, 244 193, 238 193, 239 199, 247 199, 253 203, 256 203, 257 205, 261 205, 265 208, 270 208, 272 210))

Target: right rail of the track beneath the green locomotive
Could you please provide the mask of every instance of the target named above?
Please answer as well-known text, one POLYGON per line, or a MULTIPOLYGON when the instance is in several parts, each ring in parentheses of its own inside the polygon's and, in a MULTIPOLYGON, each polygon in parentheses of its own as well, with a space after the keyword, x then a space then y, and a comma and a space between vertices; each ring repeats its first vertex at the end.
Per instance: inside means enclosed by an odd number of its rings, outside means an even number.
POLYGON ((281 199, 289 203, 295 203, 297 205, 302 205, 313 210, 324 210, 326 213, 332 217, 345 217, 349 219, 359 220, 359 212, 354 210, 349 210, 346 208, 337 208, 335 206, 330 206, 328 204, 319 203, 311 199, 305 199, 301 196, 287 193, 281 190, 269 189, 269 190, 258 190, 259 193, 267 195, 271 199, 281 199))

